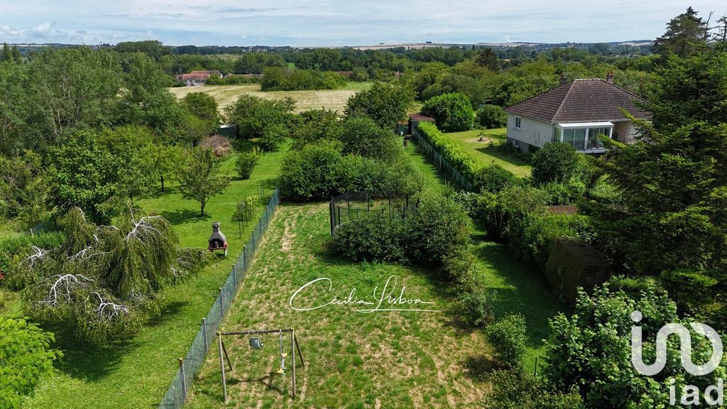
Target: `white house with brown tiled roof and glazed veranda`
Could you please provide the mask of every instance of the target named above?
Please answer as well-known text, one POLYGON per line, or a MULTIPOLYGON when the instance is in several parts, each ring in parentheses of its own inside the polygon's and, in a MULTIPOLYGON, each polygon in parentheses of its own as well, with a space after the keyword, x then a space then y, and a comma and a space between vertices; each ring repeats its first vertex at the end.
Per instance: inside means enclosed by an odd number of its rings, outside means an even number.
POLYGON ((585 154, 606 151, 599 136, 633 143, 638 130, 621 109, 637 119, 651 119, 646 100, 606 79, 576 79, 505 108, 507 142, 523 152, 547 142, 568 143, 585 154))

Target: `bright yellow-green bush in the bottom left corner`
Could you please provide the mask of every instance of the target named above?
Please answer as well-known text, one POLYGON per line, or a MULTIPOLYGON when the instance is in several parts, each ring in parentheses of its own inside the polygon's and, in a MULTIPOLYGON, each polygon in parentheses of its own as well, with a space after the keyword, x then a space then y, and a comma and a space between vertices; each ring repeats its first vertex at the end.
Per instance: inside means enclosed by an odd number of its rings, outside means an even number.
POLYGON ((19 409, 63 353, 51 347, 55 335, 25 319, 0 317, 0 334, 0 408, 19 409))

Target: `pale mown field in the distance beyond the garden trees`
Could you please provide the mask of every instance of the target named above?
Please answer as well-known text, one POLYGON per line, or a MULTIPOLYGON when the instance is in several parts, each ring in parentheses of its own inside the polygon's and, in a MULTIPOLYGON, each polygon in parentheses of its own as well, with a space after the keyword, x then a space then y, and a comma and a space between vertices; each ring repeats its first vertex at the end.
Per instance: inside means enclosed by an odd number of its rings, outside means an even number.
POLYGON ((249 85, 204 85, 202 87, 174 87, 169 88, 172 94, 177 98, 184 98, 190 92, 205 92, 212 95, 220 111, 225 106, 234 103, 242 94, 255 95, 260 98, 281 99, 291 97, 296 102, 296 112, 305 111, 312 108, 327 108, 343 113, 343 107, 346 105, 348 98, 356 94, 360 90, 366 90, 371 87, 370 82, 347 82, 344 88, 340 90, 324 90, 324 91, 260 91, 260 84, 249 85))

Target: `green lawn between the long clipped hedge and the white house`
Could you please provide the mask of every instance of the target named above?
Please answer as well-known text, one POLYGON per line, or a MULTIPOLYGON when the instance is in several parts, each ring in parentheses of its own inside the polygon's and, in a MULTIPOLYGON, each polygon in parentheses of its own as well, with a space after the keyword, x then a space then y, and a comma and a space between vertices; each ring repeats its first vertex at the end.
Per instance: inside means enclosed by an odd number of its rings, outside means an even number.
POLYGON ((447 136, 457 141, 462 147, 467 149, 473 158, 484 164, 499 164, 510 172, 518 176, 529 176, 532 167, 526 162, 507 154, 502 154, 493 148, 489 148, 491 141, 497 142, 505 139, 505 128, 494 130, 469 130, 465 132, 449 132, 447 136), (483 141, 480 142, 482 135, 483 141))

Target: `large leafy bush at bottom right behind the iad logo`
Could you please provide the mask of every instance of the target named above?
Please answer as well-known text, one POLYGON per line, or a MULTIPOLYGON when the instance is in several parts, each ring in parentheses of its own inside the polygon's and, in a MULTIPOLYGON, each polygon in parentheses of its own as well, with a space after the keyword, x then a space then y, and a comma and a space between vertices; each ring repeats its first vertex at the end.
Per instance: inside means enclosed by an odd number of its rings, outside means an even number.
MULTIPOLYGON (((659 408, 669 402, 668 380, 675 388, 685 385, 700 390, 715 385, 726 375, 725 365, 712 373, 693 376, 679 360, 678 337, 667 339, 667 365, 659 374, 642 376, 631 362, 632 313, 640 311, 644 362, 654 362, 653 340, 670 323, 691 328, 677 314, 676 304, 653 283, 630 296, 609 285, 596 287, 593 295, 579 291, 573 314, 558 314, 550 319, 551 333, 546 341, 544 374, 558 390, 577 389, 589 408, 659 408)), ((707 360, 712 346, 707 338, 691 333, 692 356, 707 360)))

